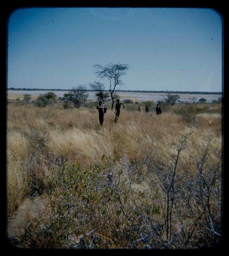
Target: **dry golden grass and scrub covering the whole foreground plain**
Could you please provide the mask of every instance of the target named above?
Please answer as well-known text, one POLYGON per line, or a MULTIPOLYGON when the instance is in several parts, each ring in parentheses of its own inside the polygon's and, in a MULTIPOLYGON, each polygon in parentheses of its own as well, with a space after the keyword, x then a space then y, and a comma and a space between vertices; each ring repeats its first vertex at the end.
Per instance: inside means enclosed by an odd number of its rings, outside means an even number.
MULTIPOLYGON (((22 248, 203 248, 221 239, 221 103, 7 107, 9 222, 22 248)), ((108 104, 109 105, 109 104, 108 104)))

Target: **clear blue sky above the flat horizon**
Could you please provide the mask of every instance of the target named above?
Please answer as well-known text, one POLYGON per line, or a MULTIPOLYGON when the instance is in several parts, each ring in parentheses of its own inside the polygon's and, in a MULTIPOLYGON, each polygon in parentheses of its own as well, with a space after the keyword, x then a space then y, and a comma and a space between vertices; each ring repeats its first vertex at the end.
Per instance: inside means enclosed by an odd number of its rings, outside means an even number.
POLYGON ((9 18, 8 87, 91 89, 93 64, 108 63, 129 65, 123 90, 222 91, 222 19, 201 8, 89 7, 9 18))

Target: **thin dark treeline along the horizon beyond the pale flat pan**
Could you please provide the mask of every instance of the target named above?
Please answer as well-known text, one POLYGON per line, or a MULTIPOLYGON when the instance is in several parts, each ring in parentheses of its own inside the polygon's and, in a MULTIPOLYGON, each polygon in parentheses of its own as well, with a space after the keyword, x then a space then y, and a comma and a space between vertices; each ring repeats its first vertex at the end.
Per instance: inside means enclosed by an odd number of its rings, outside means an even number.
MULTIPOLYGON (((17 90, 17 91, 71 91, 71 89, 38 89, 38 88, 14 88, 10 87, 8 90, 17 90)), ((86 91, 94 91, 94 90, 86 90, 86 91)), ((105 90, 108 91, 108 90, 105 90)), ((180 94, 222 94, 222 92, 218 91, 133 91, 133 90, 117 90, 117 91, 125 91, 125 92, 153 92, 153 93, 180 93, 180 94)))

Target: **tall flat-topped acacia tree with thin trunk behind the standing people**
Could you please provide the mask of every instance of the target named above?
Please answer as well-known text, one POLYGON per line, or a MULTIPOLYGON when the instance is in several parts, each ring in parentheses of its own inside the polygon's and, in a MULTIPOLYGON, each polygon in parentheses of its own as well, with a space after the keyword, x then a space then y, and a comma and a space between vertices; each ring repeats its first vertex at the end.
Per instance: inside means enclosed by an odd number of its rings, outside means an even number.
POLYGON ((110 83, 109 92, 110 92, 110 97, 112 99, 111 110, 113 110, 114 91, 115 91, 117 85, 123 84, 122 81, 120 80, 120 77, 122 75, 126 74, 126 71, 129 67, 127 64, 109 63, 106 66, 95 64, 95 65, 93 65, 93 68, 96 69, 97 77, 108 78, 108 80, 109 80, 109 83, 110 83))

